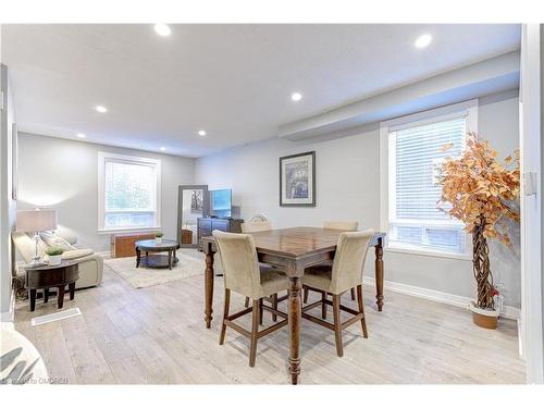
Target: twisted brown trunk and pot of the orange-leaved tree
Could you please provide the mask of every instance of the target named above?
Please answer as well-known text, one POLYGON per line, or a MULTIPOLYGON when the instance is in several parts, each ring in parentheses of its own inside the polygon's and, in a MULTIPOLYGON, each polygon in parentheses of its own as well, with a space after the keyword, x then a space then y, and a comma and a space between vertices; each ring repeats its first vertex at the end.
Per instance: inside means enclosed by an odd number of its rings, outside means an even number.
POLYGON ((496 329, 498 310, 493 299, 493 275, 490 269, 490 248, 483 235, 485 221, 472 231, 472 270, 478 285, 478 301, 469 306, 474 324, 485 329, 496 329))

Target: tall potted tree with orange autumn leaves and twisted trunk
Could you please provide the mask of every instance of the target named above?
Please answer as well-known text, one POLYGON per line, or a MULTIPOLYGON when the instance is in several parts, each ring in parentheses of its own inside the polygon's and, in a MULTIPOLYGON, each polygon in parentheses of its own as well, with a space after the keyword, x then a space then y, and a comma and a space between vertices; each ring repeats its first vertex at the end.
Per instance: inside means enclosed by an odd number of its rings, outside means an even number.
MULTIPOLYGON (((452 145, 443 147, 447 151, 452 145)), ((472 234, 472 264, 478 299, 469 306, 475 324, 495 329, 498 308, 493 283, 487 239, 498 239, 511 247, 508 220, 519 222, 516 210, 519 196, 519 156, 508 156, 504 163, 487 140, 469 133, 467 149, 458 158, 445 158, 437 165, 442 196, 438 208, 465 223, 472 234)))

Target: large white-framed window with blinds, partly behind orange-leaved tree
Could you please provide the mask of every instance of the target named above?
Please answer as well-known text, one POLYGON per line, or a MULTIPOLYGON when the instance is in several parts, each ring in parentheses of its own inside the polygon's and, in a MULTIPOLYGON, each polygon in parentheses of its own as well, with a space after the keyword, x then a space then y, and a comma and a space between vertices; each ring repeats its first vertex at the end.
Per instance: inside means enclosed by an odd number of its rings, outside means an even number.
POLYGON ((474 101, 382 123, 382 226, 390 248, 466 255, 463 224, 436 207, 442 188, 436 165, 460 156, 466 135, 475 129, 474 101), (442 147, 452 144, 447 151, 442 147))

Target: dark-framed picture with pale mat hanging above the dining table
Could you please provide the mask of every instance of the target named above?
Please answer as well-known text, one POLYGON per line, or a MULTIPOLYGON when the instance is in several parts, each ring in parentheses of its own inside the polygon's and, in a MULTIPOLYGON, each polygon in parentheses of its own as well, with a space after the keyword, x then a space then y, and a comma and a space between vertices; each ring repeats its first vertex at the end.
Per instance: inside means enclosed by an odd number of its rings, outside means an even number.
POLYGON ((280 206, 316 207, 316 151, 280 158, 280 206))

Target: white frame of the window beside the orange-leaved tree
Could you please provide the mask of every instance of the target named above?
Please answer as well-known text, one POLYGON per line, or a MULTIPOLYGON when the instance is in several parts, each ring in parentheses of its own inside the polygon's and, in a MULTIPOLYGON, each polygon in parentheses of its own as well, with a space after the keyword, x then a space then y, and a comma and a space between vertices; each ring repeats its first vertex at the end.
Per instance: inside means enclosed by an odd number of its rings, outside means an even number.
MULTIPOLYGON (((478 99, 454 103, 436 109, 431 109, 400 118, 395 118, 380 123, 380 224, 382 231, 390 231, 390 224, 411 223, 407 220, 395 220, 394 208, 390 206, 390 200, 395 196, 396 169, 390 168, 390 162, 394 160, 395 149, 390 143, 390 133, 408 127, 417 127, 435 122, 453 120, 459 116, 467 119, 467 132, 478 132, 478 99)), ((444 225, 445 228, 462 225, 457 220, 428 220, 425 222, 413 221, 413 224, 424 226, 444 225)), ((431 257, 453 258, 471 260, 472 240, 470 234, 466 234, 465 252, 456 254, 440 249, 426 248, 411 244, 392 243, 386 239, 384 247, 387 251, 415 254, 431 257)))

